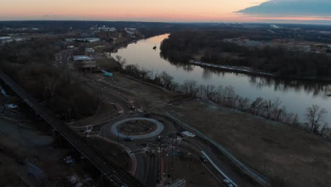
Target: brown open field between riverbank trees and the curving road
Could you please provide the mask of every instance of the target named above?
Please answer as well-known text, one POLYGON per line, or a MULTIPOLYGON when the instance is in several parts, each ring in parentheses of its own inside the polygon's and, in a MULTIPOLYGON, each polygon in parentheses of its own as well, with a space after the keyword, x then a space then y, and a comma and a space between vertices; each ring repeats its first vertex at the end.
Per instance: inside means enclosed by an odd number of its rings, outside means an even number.
POLYGON ((168 110, 277 182, 274 186, 331 186, 331 145, 321 137, 205 101, 168 110))

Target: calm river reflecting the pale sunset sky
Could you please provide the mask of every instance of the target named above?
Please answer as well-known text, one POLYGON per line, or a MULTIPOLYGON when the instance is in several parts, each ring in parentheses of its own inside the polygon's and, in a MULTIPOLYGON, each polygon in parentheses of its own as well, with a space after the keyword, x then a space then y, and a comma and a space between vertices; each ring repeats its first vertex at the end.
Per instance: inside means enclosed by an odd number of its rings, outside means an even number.
POLYGON ((325 122, 331 127, 331 97, 327 96, 331 94, 330 83, 274 79, 222 70, 215 71, 192 64, 174 64, 160 55, 160 45, 165 38, 168 38, 168 34, 139 40, 112 53, 112 57, 120 55, 127 60, 127 64, 138 64, 141 68, 158 73, 167 72, 179 84, 186 79, 194 79, 198 84, 216 87, 231 85, 237 94, 250 100, 259 96, 268 99, 279 98, 288 112, 298 113, 301 121, 305 120, 306 108, 315 104, 329 111, 325 116, 325 122), (157 47, 156 50, 153 50, 154 46, 157 47))

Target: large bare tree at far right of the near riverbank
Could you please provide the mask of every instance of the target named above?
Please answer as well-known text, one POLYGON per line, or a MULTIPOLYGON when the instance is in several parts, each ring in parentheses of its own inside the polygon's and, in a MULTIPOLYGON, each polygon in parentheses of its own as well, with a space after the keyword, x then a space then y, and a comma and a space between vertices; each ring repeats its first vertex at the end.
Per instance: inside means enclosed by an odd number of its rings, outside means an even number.
POLYGON ((306 109, 306 120, 308 120, 308 131, 318 132, 318 128, 323 123, 327 110, 317 105, 310 106, 306 109))

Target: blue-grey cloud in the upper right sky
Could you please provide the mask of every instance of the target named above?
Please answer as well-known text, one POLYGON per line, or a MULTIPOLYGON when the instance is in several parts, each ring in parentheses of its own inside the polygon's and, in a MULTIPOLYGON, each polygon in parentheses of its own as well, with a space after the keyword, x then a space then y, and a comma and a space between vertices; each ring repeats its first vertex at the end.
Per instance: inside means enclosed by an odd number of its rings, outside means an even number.
POLYGON ((236 13, 252 16, 331 17, 331 0, 271 0, 236 13))

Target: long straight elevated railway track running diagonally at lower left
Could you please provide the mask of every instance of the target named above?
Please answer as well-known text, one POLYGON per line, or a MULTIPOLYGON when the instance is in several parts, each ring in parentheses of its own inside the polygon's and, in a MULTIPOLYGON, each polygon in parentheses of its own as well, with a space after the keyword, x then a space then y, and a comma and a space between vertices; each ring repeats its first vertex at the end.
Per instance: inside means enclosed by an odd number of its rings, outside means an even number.
POLYGON ((38 113, 44 120, 47 121, 52 127, 59 132, 78 152, 86 157, 91 164, 97 168, 103 179, 107 179, 110 182, 110 186, 114 187, 140 187, 143 186, 137 179, 134 178, 129 172, 124 171, 119 166, 112 162, 109 162, 104 157, 100 156, 100 152, 89 147, 83 138, 71 130, 61 120, 57 119, 52 112, 50 112, 45 106, 35 100, 30 94, 28 94, 21 86, 18 86, 15 81, 8 77, 4 72, 0 70, 0 79, 2 79, 18 96, 20 96, 25 103, 28 104, 36 113, 38 113))

